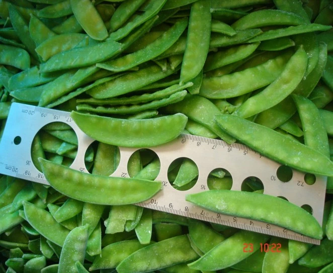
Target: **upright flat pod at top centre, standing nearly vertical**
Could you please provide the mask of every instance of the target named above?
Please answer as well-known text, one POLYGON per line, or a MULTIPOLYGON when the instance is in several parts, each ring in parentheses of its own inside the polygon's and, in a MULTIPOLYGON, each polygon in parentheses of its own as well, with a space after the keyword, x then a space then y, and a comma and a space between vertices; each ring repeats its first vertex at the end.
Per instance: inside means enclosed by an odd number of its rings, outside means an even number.
POLYGON ((180 83, 190 81, 202 70, 209 50, 211 15, 209 1, 192 4, 180 83))

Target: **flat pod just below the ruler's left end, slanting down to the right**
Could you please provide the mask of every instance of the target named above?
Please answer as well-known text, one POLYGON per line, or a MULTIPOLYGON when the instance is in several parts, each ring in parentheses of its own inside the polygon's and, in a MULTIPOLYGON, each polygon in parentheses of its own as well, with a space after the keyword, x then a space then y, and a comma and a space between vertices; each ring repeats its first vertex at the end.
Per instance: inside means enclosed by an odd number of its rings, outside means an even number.
POLYGON ((52 215, 46 210, 38 208, 28 202, 24 202, 23 206, 29 224, 42 236, 53 243, 62 246, 69 233, 69 229, 66 229, 57 223, 52 215), (43 221, 40 221, 40 219, 43 219, 43 221))

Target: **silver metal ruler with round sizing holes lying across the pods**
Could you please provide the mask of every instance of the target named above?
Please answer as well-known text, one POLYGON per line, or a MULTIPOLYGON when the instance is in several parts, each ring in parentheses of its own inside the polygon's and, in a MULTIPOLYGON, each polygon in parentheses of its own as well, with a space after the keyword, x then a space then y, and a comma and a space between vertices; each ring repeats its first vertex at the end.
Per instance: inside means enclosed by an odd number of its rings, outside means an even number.
MULTIPOLYGON (((78 149, 70 167, 88 172, 84 161, 85 152, 95 140, 77 127, 70 118, 70 113, 13 103, 0 142, 0 173, 48 185, 43 174, 32 163, 31 144, 40 128, 52 122, 66 123, 74 130, 78 139, 78 149)), ((120 163, 111 176, 128 177, 127 162, 133 152, 139 148, 119 147, 119 149, 120 163)), ((188 134, 181 134, 169 143, 149 149, 153 150, 160 160, 160 172, 156 180, 161 181, 162 190, 153 198, 138 203, 138 206, 277 237, 320 244, 320 240, 273 224, 202 209, 185 201, 185 195, 209 190, 207 186, 209 173, 215 168, 224 168, 233 178, 231 190, 241 190, 242 181, 249 176, 258 177, 264 185, 265 194, 284 197, 297 206, 310 206, 313 216, 321 224, 326 189, 325 176, 316 175, 315 183, 308 185, 304 179, 305 173, 293 169, 291 180, 283 183, 277 175, 281 164, 253 149, 239 143, 229 145, 222 140, 188 134), (180 157, 192 159, 199 169, 197 183, 188 191, 176 190, 168 180, 168 167, 180 157)))

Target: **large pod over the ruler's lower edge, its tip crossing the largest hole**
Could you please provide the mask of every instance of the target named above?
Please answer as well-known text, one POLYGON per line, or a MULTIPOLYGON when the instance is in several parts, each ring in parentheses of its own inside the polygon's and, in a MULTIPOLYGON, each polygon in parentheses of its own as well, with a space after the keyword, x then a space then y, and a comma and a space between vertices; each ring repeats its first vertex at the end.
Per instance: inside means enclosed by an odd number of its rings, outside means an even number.
POLYGON ((99 176, 76 171, 45 159, 40 158, 39 161, 46 179, 54 189, 83 202, 100 205, 132 204, 152 197, 161 188, 158 181, 99 176), (59 177, 59 173, 63 175, 59 177), (72 187, 65 181, 71 181, 72 187), (87 192, 87 189, 90 191, 87 192), (114 193, 112 196, 111 192, 114 193))

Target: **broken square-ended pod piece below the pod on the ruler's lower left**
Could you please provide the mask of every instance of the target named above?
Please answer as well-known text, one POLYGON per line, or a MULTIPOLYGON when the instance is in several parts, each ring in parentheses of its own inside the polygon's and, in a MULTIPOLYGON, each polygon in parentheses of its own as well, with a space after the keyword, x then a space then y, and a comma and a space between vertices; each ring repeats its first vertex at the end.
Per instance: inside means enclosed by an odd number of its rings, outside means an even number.
POLYGON ((136 213, 136 206, 123 205, 112 206, 109 218, 106 225, 105 233, 117 233, 125 230, 127 220, 134 220, 136 213))

